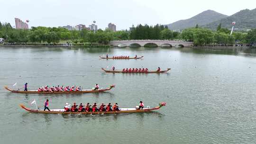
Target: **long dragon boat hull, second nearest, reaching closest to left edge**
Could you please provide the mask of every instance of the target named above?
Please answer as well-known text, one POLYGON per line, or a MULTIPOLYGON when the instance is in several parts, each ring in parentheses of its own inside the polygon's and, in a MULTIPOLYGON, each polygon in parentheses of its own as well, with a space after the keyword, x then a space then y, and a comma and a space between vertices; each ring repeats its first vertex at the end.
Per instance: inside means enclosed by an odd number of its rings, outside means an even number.
POLYGON ((63 93, 70 93, 70 94, 78 94, 78 93, 91 93, 91 92, 103 92, 103 91, 107 91, 107 90, 111 90, 112 88, 114 88, 115 85, 111 85, 110 88, 107 89, 99 89, 99 90, 81 90, 81 91, 38 91, 38 90, 27 90, 27 91, 22 91, 22 90, 11 90, 10 88, 8 88, 7 86, 5 86, 4 88, 6 90, 9 90, 11 92, 15 92, 15 93, 42 93, 42 94, 63 94, 63 93))

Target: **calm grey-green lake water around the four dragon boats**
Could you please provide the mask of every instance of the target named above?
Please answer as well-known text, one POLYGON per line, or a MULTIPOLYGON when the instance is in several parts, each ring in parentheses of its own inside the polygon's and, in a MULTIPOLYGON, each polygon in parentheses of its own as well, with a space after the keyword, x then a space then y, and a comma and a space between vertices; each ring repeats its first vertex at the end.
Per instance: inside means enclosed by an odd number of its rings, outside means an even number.
POLYGON ((256 144, 256 49, 0 47, 0 144, 256 144), (99 56, 144 55, 143 60, 99 56), (105 73, 117 69, 171 68, 161 74, 105 73), (17 85, 12 85, 17 82, 17 85), (52 85, 116 87, 88 94, 17 94, 52 85), (167 105, 155 112, 117 115, 28 113, 43 106, 114 103, 167 105))

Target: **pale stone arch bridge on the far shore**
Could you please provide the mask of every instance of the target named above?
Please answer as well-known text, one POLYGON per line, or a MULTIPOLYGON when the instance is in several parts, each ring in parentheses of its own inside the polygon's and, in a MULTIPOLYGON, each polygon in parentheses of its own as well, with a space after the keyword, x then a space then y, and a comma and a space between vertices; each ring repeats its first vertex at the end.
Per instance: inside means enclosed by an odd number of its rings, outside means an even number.
POLYGON ((153 44, 158 47, 162 46, 182 46, 182 47, 190 47, 193 45, 193 42, 184 42, 184 41, 172 41, 172 40, 113 40, 110 41, 110 45, 112 46, 131 46, 131 45, 139 45, 144 47, 145 45, 153 44))

